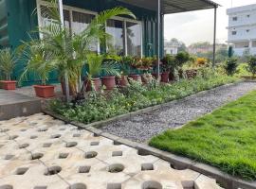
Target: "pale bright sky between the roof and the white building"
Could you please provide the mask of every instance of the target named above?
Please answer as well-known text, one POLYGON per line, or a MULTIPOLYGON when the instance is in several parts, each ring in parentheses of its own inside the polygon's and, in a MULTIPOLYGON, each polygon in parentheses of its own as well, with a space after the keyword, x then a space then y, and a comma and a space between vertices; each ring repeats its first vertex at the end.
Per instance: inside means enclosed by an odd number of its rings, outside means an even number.
MULTIPOLYGON (((225 43, 228 39, 227 26, 229 18, 226 9, 232 7, 256 4, 256 0, 213 0, 222 5, 217 10, 217 43, 225 43), (232 2, 232 3, 231 3, 232 2)), ((177 38, 179 41, 190 45, 196 42, 213 41, 214 9, 191 11, 186 13, 165 15, 164 36, 171 40, 177 38)))

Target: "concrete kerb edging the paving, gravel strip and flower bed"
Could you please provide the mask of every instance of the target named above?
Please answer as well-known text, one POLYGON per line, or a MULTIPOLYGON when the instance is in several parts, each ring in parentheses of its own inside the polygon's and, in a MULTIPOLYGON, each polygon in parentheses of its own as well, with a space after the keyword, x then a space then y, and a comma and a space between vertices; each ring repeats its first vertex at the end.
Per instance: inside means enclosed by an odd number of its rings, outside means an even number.
MULTIPOLYGON (((250 182, 250 181, 246 181, 246 180, 241 180, 239 178, 230 176, 229 174, 224 173, 220 169, 215 168, 213 166, 210 166, 209 164, 197 163, 195 161, 192 161, 189 158, 177 156, 177 155, 174 155, 170 152, 162 151, 162 150, 156 149, 155 147, 152 147, 152 146, 147 146, 146 144, 139 144, 137 142, 132 142, 130 140, 121 138, 119 136, 116 136, 116 135, 113 135, 113 134, 110 134, 110 133, 107 133, 107 132, 103 132, 101 129, 99 129, 102 126, 105 126, 107 124, 115 123, 117 121, 124 120, 124 119, 129 119, 129 118, 132 118, 133 116, 136 116, 136 115, 139 115, 139 114, 142 114, 142 113, 153 112, 153 111, 159 110, 159 109, 164 108, 164 107, 170 107, 174 103, 176 103, 180 100, 188 100, 192 96, 195 96, 195 95, 198 95, 198 94, 207 94, 212 90, 222 89, 222 88, 225 88, 225 87, 237 85, 240 82, 251 82, 251 80, 241 80, 241 81, 238 81, 238 82, 221 85, 221 86, 212 88, 210 90, 198 92, 196 94, 188 95, 184 98, 173 100, 173 101, 168 102, 168 103, 164 103, 164 104, 161 104, 161 105, 156 105, 156 106, 153 106, 153 107, 141 109, 137 112, 129 112, 127 114, 122 114, 122 115, 119 115, 119 116, 116 116, 116 117, 113 117, 113 118, 110 118, 110 119, 107 119, 107 120, 98 121, 98 122, 94 122, 94 123, 87 124, 87 125, 82 124, 82 123, 77 122, 77 121, 67 120, 64 116, 62 116, 60 114, 57 114, 55 112, 49 112, 49 111, 46 111, 46 110, 43 110, 43 112, 52 116, 52 117, 54 117, 54 118, 56 118, 56 119, 64 121, 65 124, 71 124, 71 125, 74 125, 74 126, 78 127, 78 129, 86 129, 86 130, 94 133, 97 136, 103 136, 103 137, 106 137, 108 139, 111 139, 111 140, 114 141, 115 144, 121 144, 121 145, 131 146, 133 148, 136 148, 138 150, 139 154, 154 155, 155 157, 158 157, 162 160, 173 163, 174 166, 190 168, 190 169, 192 169, 196 172, 199 172, 201 174, 204 174, 206 176, 209 176, 209 177, 215 179, 218 183, 220 183, 223 187, 225 187, 227 189, 238 189, 238 188, 256 189, 256 181, 250 182)), ((255 81, 253 81, 253 82, 255 82, 255 81)))

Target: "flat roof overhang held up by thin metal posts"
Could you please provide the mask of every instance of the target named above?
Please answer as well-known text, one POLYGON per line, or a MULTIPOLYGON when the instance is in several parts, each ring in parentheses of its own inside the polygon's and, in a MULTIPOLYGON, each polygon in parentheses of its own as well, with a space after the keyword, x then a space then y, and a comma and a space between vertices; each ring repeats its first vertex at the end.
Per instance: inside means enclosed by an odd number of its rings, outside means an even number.
MULTIPOLYGON (((144 9, 157 10, 157 0, 118 0, 144 9)), ((161 13, 172 14, 200 9, 213 9, 219 5, 210 0, 161 0, 161 13)))

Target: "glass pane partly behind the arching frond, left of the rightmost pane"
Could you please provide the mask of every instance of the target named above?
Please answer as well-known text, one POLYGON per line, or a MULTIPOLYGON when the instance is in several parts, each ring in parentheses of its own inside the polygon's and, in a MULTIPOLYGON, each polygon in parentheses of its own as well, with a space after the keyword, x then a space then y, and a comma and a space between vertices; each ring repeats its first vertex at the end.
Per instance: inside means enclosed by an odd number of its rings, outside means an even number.
POLYGON ((108 49, 108 51, 113 51, 119 56, 124 55, 123 22, 119 20, 108 20, 106 32, 113 36, 113 49, 108 49))

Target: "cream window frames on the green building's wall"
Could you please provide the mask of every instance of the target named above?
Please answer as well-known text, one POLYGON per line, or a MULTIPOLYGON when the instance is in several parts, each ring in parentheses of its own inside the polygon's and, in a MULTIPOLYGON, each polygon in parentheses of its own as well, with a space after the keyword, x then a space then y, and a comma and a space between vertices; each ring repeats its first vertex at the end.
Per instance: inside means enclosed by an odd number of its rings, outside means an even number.
MULTIPOLYGON (((44 0, 36 0, 36 7, 37 7, 37 19, 38 19, 38 25, 39 26, 43 26, 42 21, 42 15, 41 15, 41 6, 48 6, 50 3, 46 2, 44 0)), ((75 7, 71 7, 71 6, 66 6, 64 5, 64 9, 69 11, 69 20, 70 20, 70 30, 72 31, 72 25, 73 25, 73 11, 78 11, 81 13, 85 13, 85 14, 91 14, 91 15, 95 15, 97 16, 99 13, 95 12, 95 11, 91 11, 91 10, 87 10, 87 9, 80 9, 80 8, 75 8, 75 7)), ((124 29, 124 55, 127 56, 127 28, 126 28, 126 23, 136 23, 139 24, 141 29, 140 29, 140 36, 141 36, 141 49, 140 49, 140 57, 142 58, 143 56, 143 23, 142 21, 138 21, 138 20, 133 20, 133 19, 129 19, 129 18, 124 18, 124 17, 119 17, 119 16, 114 16, 112 18, 113 20, 119 20, 123 22, 123 29, 124 29)), ((106 23, 105 23, 106 26, 106 23)), ((43 38, 42 34, 39 34, 40 39, 43 38)), ((98 53, 101 54, 101 44, 100 42, 98 42, 98 53)))

